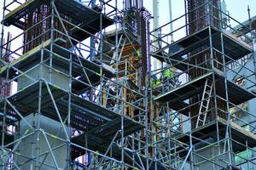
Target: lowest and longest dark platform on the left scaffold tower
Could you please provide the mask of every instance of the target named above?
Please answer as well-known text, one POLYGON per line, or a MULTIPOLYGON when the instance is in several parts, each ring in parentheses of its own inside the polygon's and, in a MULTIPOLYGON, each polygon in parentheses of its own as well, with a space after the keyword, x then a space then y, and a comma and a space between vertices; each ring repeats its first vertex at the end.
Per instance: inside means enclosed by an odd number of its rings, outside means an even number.
MULTIPOLYGON (((38 90, 39 82, 35 82, 27 88, 21 89, 16 94, 9 96, 8 100, 22 116, 28 116, 38 111, 38 90)), ((68 114, 68 93, 67 91, 56 87, 55 85, 46 85, 42 82, 42 111, 41 114, 55 121, 60 122, 52 98, 55 99, 55 105, 61 115, 62 120, 67 118, 68 114), (48 88, 49 87, 49 88, 48 88), (51 94, 49 94, 49 91, 51 94)), ((4 102, 0 102, 1 111, 4 102)), ((10 105, 7 106, 7 115, 12 114, 10 105)), ((16 115, 20 120, 20 116, 16 115)), ((76 94, 71 96, 71 127, 75 127, 83 132, 93 131, 96 135, 112 136, 120 128, 120 117, 118 113, 110 111, 101 105, 97 105, 89 100, 82 99, 76 94), (108 131, 109 133, 105 133, 108 131)), ((143 128, 143 125, 124 117, 124 131, 128 135, 134 133, 137 129, 143 128)))

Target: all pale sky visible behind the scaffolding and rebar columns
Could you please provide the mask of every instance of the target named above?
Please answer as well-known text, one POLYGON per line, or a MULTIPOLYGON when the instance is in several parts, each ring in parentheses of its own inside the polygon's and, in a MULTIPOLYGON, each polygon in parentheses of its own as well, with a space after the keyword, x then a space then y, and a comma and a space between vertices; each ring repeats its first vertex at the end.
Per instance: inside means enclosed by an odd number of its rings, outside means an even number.
MULTIPOLYGON (((14 0, 6 0, 8 3, 14 1, 14 0)), ((19 2, 24 3, 26 0, 19 0, 19 2)), ((148 11, 153 14, 153 2, 158 1, 159 2, 159 26, 162 26, 170 21, 170 14, 169 14, 169 1, 172 2, 172 19, 175 20, 177 17, 184 14, 184 0, 143 0, 145 8, 148 9, 148 11)), ((115 0, 112 0, 114 3, 115 0)), ((123 6, 123 0, 117 0, 119 7, 123 6)), ((248 13, 247 13, 247 5, 251 8, 251 16, 253 17, 256 15, 256 0, 225 0, 225 3, 227 5, 227 10, 230 12, 230 15, 235 18, 236 20, 242 22, 244 20, 248 19, 248 13)), ((13 6, 9 8, 15 8, 17 6, 17 3, 14 3, 13 6)), ((3 16, 3 0, 0 0, 0 18, 3 16)), ((180 26, 184 25, 184 18, 182 20, 178 20, 173 23, 173 29, 177 29, 180 26)), ((153 20, 151 20, 151 28, 153 29, 153 20)), ((231 26, 237 26, 237 23, 231 22, 231 26)), ((1 30, 1 29, 0 29, 1 30)), ((163 29, 163 34, 170 32, 170 26, 166 26, 166 29, 163 29)), ((10 31, 13 34, 13 37, 18 35, 20 31, 16 31, 15 27, 9 26, 5 27, 5 33, 6 31, 10 31)), ((183 37, 185 34, 185 30, 180 30, 174 35, 174 40, 183 37)), ((22 39, 20 39, 22 42, 22 39)), ((166 41, 170 42, 170 37, 166 37, 166 41)), ((12 44, 13 47, 14 44, 12 44)))

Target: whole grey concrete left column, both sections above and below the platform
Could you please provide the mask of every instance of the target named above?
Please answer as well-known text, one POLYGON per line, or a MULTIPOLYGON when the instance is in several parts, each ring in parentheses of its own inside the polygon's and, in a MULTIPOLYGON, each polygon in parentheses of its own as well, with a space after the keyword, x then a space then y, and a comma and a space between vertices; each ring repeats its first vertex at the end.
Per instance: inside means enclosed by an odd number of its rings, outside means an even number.
MULTIPOLYGON (((67 75, 61 74, 61 72, 65 72, 67 74, 68 69, 56 68, 55 65, 53 65, 53 67, 58 71, 52 70, 51 75, 49 68, 45 65, 38 65, 31 71, 28 71, 26 74, 35 80, 33 81, 25 76, 19 77, 18 90, 26 88, 42 78, 46 82, 50 82, 59 88, 68 90, 69 79, 67 75), (65 71, 63 69, 65 69, 65 71)), ((25 118, 26 121, 29 122, 33 127, 37 127, 39 123, 39 129, 44 130, 45 133, 49 133, 50 135, 47 135, 46 139, 44 134, 38 129, 36 133, 33 133, 31 136, 23 139, 24 134, 28 134, 32 131, 24 120, 20 121, 20 129, 18 130, 19 133, 15 135, 15 140, 20 140, 20 144, 18 144, 18 147, 15 150, 20 154, 20 156, 14 156, 14 161, 20 167, 20 169, 54 170, 57 169, 56 167, 59 169, 68 169, 67 156, 69 151, 67 150, 67 142, 61 140, 67 139, 67 136, 66 133, 64 133, 64 127, 61 126, 61 123, 56 122, 47 116, 38 116, 38 114, 33 115, 33 113, 30 113, 30 115, 26 116, 25 118), (56 137, 60 139, 57 139, 56 137), (47 140, 49 141, 49 144, 47 140), (51 149, 49 149, 49 145, 51 149), (49 150, 52 150, 54 156, 52 156, 49 150), (36 157, 38 156, 39 158, 37 159, 36 157), (57 164, 57 166, 55 164, 57 164)))

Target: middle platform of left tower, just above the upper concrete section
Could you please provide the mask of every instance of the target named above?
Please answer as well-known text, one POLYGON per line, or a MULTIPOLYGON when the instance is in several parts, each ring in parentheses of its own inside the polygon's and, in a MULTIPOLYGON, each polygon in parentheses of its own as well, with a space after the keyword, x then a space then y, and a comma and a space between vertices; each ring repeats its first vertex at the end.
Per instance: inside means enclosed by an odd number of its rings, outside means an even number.
POLYGON ((85 89, 89 88, 89 84, 96 86, 100 83, 101 77, 114 77, 115 73, 112 68, 107 65, 96 64, 61 47, 61 44, 64 42, 65 41, 61 38, 55 39, 55 41, 52 42, 52 53, 49 51, 50 40, 44 42, 42 45, 38 45, 38 47, 33 48, 18 59, 13 60, 9 65, 4 65, 0 69, 0 77, 6 77, 8 70, 10 78, 24 74, 28 69, 40 64, 42 53, 44 53, 44 65, 49 65, 48 60, 52 56, 53 67, 56 68, 56 71, 62 71, 67 76, 70 69, 69 65, 72 63, 72 76, 79 77, 72 83, 73 93, 75 94, 80 94, 85 89), (84 72, 88 78, 84 75, 84 72))

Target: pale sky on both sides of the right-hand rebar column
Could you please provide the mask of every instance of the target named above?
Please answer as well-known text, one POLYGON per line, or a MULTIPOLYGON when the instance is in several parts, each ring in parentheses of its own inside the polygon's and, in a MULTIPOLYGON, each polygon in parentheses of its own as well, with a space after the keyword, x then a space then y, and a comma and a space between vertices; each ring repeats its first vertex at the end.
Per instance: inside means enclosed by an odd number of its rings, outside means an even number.
MULTIPOLYGON (((153 14, 153 2, 159 2, 159 26, 170 22, 169 14, 169 1, 172 2, 172 20, 175 20, 177 17, 183 15, 184 12, 184 0, 144 0, 144 6, 148 8, 148 11, 153 14)), ((223 1, 223 0, 221 0, 223 1)), ((248 20, 247 6, 250 8, 251 17, 256 15, 256 0, 224 0, 227 6, 227 10, 230 13, 230 16, 236 19, 239 22, 248 20)), ((173 23, 173 30, 176 30, 180 26, 184 26, 185 20, 184 17, 180 20, 177 20, 173 23)), ((151 22, 151 28, 153 29, 153 23, 151 22)), ((235 20, 230 20, 231 26, 237 26, 238 23, 235 20)), ((162 29, 162 33, 166 34, 170 32, 171 26, 166 26, 162 29), (166 28, 168 27, 168 28, 166 28)), ((185 35, 185 28, 176 32, 174 34, 174 41, 180 39, 185 35)), ((167 42, 170 42, 170 37, 166 37, 167 42)))

